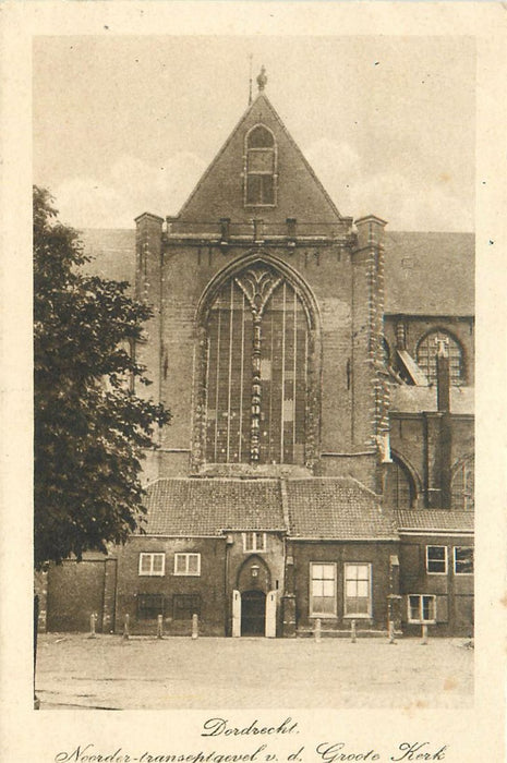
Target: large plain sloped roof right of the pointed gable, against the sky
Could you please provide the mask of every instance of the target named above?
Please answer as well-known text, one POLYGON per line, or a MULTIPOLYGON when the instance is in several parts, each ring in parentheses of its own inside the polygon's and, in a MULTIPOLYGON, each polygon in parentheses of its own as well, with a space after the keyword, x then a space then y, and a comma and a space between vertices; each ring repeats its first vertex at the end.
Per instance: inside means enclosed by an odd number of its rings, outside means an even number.
POLYGON ((385 237, 386 313, 474 315, 473 233, 385 237))

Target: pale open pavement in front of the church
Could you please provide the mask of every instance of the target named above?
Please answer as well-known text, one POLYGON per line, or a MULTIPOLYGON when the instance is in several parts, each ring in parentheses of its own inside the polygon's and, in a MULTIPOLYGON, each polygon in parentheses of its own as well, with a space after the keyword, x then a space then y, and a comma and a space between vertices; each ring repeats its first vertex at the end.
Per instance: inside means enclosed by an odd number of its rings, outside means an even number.
POLYGON ((40 710, 471 707, 464 639, 39 635, 40 710))

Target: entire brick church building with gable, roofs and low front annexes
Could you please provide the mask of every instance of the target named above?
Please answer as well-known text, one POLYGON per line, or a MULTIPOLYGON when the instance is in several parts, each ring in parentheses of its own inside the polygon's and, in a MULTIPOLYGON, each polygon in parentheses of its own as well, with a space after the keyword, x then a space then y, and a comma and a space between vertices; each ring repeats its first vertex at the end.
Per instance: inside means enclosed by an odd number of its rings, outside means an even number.
POLYGON ((343 217, 258 85, 177 217, 83 234, 172 421, 145 532, 51 568, 41 625, 469 635, 473 237, 343 217))

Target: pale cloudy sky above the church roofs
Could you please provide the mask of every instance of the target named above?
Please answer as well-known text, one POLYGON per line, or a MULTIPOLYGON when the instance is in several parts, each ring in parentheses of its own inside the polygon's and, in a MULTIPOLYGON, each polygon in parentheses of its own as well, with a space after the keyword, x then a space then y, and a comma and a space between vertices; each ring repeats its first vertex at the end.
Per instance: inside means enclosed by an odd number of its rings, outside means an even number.
POLYGON ((75 228, 176 215, 266 95, 340 213, 391 230, 471 231, 468 37, 37 37, 34 182, 75 228))

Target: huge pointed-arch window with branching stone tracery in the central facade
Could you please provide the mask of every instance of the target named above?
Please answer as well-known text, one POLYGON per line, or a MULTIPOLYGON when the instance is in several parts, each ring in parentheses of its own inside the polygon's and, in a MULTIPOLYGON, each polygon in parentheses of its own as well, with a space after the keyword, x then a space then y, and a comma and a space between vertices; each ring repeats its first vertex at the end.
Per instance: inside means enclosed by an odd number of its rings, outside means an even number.
POLYGON ((257 263, 208 312, 208 463, 304 463, 309 324, 298 291, 257 263))

